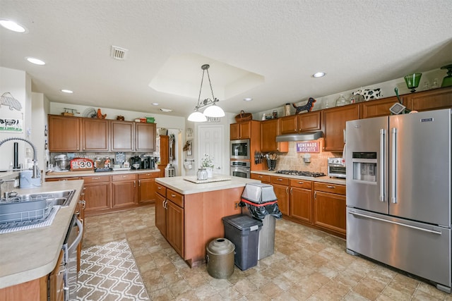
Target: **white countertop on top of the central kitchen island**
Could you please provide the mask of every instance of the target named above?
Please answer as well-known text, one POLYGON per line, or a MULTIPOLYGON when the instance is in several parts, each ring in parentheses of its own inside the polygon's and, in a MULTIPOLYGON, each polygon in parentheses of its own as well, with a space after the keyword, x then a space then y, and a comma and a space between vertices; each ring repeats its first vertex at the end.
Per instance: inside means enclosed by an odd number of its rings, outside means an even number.
POLYGON ((188 176, 178 176, 169 178, 156 178, 155 182, 164 185, 182 195, 191 195, 199 192, 208 192, 214 190, 223 190, 237 187, 245 187, 247 183, 261 183, 260 180, 252 180, 249 178, 234 177, 229 175, 215 175, 212 179, 230 178, 230 180, 218 180, 209 183, 193 183, 189 180, 184 180, 188 176))

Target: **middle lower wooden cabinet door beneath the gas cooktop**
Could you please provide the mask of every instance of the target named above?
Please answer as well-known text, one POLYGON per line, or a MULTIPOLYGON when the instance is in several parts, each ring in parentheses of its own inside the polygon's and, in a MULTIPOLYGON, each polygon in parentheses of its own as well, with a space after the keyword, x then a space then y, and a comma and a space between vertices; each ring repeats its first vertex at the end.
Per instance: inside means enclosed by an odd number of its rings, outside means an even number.
POLYGON ((290 216, 302 221, 312 222, 312 191, 303 188, 290 188, 290 216))

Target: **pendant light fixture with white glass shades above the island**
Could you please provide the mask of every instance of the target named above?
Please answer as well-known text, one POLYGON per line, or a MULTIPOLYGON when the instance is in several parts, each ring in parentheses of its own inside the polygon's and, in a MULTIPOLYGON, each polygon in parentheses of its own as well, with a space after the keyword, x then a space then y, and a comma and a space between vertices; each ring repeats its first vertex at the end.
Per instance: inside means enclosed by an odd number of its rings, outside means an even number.
POLYGON ((199 96, 198 96, 198 104, 195 106, 195 111, 193 113, 190 114, 189 116, 189 121, 194 121, 194 122, 204 122, 207 121, 207 117, 223 117, 225 116, 225 111, 223 111, 223 109, 220 108, 220 106, 217 106, 217 104, 215 104, 216 102, 220 102, 220 100, 218 100, 218 98, 215 98, 215 96, 213 96, 213 89, 212 89, 212 82, 210 82, 210 75, 209 75, 209 65, 205 64, 203 66, 201 66, 201 69, 203 69, 203 77, 201 78, 201 88, 199 89, 199 96), (201 101, 201 91, 203 90, 203 81, 204 81, 204 73, 207 71, 207 78, 209 80, 209 85, 210 85, 210 92, 212 92, 212 99, 210 98, 206 98, 203 101, 201 101), (204 113, 201 113, 199 110, 206 108, 206 110, 204 110, 204 113))

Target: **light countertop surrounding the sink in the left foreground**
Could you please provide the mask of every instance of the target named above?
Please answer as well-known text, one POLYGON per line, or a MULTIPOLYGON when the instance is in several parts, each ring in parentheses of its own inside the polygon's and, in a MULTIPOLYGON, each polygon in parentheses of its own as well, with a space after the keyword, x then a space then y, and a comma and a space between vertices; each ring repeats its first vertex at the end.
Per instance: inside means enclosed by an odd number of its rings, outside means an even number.
POLYGON ((76 210, 83 180, 44 182, 39 188, 17 189, 18 194, 76 190, 71 204, 61 207, 52 225, 0 234, 0 288, 49 274, 57 264, 69 223, 76 210))

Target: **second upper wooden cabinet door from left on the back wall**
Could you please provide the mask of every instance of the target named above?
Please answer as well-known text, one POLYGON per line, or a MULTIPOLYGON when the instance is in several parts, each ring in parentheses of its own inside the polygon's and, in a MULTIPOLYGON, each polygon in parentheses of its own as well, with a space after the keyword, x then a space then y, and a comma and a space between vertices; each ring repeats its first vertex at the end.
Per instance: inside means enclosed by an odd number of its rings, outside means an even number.
POLYGON ((81 118, 83 151, 108 151, 109 123, 105 119, 81 118))

